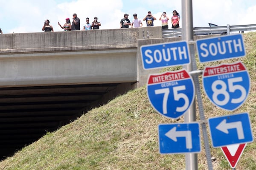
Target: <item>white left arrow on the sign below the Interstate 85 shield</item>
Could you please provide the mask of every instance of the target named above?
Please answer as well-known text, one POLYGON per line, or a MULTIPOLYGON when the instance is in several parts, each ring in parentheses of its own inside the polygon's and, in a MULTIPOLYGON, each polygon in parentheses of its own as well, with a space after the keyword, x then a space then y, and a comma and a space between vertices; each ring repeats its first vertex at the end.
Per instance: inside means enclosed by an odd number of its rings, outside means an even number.
POLYGON ((218 126, 216 126, 216 129, 226 134, 228 134, 229 129, 234 129, 234 128, 236 128, 238 139, 244 139, 244 130, 243 130, 241 121, 227 123, 227 120, 224 119, 220 122, 220 124, 218 124, 218 126))

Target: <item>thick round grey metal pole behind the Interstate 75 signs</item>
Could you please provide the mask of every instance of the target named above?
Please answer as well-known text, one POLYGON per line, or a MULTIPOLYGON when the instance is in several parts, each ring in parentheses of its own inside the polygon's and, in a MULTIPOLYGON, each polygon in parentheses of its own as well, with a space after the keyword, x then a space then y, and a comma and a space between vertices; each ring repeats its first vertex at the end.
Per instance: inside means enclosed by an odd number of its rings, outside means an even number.
MULTIPOLYGON (((193 14, 192 14, 192 0, 182 0, 182 39, 187 42, 193 40, 193 14)), ((190 56, 195 56, 194 45, 189 45, 190 56), (193 48, 194 54, 191 54, 193 48)), ((192 71, 192 64, 184 65, 188 72, 192 71)), ((195 122, 195 101, 184 116, 185 122, 195 122)), ((198 154, 197 153, 186 153, 186 170, 198 170, 198 154)))

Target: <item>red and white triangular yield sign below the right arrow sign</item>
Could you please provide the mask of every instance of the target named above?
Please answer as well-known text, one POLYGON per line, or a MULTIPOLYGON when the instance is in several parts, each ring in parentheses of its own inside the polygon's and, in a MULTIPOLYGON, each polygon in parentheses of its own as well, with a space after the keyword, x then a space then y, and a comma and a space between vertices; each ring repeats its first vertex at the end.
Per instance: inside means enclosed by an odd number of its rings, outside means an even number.
POLYGON ((244 148, 245 144, 231 144, 225 147, 221 147, 222 152, 224 153, 227 161, 229 162, 232 168, 236 168, 236 164, 238 163, 244 148))

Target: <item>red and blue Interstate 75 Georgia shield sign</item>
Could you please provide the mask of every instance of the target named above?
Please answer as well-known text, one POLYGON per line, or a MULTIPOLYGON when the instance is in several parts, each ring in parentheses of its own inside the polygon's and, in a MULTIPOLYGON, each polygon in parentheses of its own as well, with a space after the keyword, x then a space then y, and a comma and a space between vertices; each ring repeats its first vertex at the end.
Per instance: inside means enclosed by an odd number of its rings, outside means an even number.
POLYGON ((147 94, 154 109, 163 116, 177 119, 182 116, 195 98, 192 77, 185 69, 151 74, 147 94))

